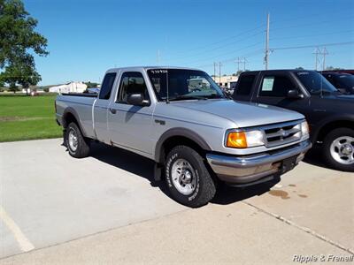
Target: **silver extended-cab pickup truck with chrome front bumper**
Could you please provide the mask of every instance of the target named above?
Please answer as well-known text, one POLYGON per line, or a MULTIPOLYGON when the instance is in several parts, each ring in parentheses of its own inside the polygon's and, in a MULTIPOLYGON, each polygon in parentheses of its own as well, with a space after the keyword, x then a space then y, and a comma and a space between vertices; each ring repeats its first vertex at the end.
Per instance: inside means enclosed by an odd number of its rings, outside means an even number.
POLYGON ((196 69, 111 69, 99 95, 58 95, 56 112, 70 155, 98 140, 146 156, 189 207, 211 201, 219 180, 250 186, 292 170, 312 147, 303 115, 229 100, 196 69))

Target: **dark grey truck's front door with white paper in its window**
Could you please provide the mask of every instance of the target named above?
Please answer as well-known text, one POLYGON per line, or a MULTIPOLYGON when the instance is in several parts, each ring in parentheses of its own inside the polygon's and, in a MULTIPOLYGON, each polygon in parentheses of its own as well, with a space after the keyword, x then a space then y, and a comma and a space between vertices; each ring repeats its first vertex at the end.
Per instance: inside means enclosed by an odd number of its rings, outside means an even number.
POLYGON ((310 100, 302 87, 298 86, 289 73, 266 72, 258 79, 258 93, 253 95, 253 102, 279 106, 305 113, 309 110, 310 100), (297 90, 302 98, 289 98, 289 90, 297 90))

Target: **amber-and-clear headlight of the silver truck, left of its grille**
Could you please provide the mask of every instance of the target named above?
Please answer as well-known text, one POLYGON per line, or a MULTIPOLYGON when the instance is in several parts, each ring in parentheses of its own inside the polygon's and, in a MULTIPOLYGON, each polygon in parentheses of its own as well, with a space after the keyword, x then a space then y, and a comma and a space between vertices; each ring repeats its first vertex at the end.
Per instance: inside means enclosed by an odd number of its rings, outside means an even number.
POLYGON ((253 148, 265 144, 261 131, 227 133, 227 148, 253 148))

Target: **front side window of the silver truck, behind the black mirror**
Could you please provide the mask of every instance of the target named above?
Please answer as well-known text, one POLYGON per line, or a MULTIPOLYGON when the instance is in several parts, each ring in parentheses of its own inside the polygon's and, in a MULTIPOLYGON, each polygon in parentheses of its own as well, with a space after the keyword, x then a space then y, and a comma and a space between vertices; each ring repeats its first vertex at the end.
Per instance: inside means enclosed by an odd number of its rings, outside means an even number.
POLYGON ((141 72, 124 72, 120 79, 117 102, 127 104, 127 96, 142 94, 144 100, 150 100, 148 88, 141 72))

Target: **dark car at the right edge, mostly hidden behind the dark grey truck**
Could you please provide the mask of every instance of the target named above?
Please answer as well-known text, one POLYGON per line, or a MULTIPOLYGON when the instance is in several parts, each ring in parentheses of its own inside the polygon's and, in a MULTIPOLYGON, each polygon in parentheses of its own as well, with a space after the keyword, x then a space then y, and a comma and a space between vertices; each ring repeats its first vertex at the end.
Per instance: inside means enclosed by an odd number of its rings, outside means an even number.
POLYGON ((343 94, 354 95, 354 75, 343 72, 321 72, 343 94))

